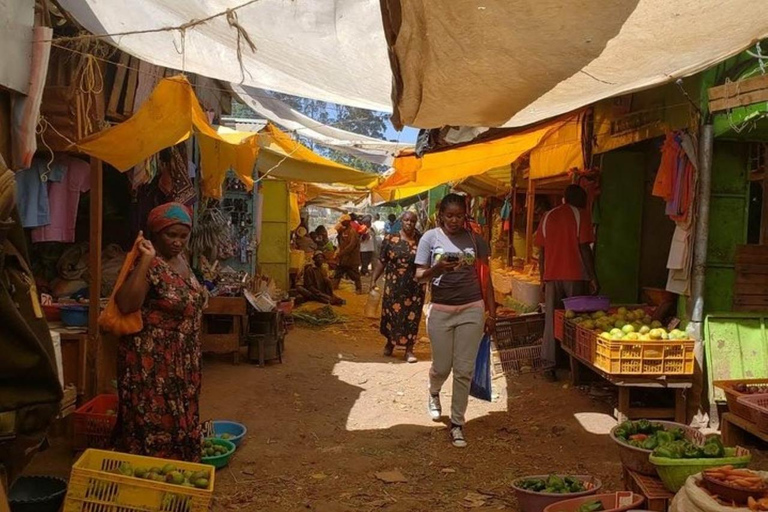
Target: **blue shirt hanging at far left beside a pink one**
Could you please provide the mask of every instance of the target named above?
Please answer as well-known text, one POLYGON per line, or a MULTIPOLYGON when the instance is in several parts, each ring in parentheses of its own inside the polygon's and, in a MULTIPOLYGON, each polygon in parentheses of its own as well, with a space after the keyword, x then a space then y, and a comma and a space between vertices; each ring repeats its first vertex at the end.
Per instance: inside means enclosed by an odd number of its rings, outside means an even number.
POLYGON ((34 159, 29 169, 16 173, 16 205, 21 225, 25 228, 46 226, 51 222, 48 182, 61 181, 66 165, 54 161, 48 169, 48 161, 34 159))

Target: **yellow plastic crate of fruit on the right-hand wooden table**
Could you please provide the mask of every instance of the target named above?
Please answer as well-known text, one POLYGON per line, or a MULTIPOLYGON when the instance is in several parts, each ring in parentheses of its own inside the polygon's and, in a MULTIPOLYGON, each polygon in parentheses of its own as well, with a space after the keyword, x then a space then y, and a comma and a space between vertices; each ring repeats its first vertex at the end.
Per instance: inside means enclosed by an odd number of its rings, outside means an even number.
POLYGON ((622 341, 597 338, 595 366, 614 375, 692 375, 693 340, 622 341))

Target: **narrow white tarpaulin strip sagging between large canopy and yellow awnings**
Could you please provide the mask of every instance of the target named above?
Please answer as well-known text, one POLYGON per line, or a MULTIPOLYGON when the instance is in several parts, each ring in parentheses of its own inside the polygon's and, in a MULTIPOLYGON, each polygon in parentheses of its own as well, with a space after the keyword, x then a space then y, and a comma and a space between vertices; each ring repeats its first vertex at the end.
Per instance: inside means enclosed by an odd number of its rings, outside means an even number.
POLYGON ((231 87, 232 92, 242 103, 273 123, 279 124, 289 131, 294 131, 302 137, 307 137, 318 144, 357 158, 390 166, 392 158, 398 151, 410 147, 410 144, 366 137, 320 123, 298 112, 284 101, 270 97, 269 92, 263 89, 237 84, 232 84, 231 87))

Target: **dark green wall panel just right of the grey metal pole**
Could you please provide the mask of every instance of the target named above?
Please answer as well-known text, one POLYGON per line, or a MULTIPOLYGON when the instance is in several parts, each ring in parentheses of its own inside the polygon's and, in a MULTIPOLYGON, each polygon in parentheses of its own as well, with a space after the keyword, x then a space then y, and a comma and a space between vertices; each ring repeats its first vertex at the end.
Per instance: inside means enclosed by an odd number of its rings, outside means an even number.
POLYGON ((747 145, 715 141, 704 284, 707 312, 733 309, 736 246, 747 239, 748 192, 747 145))

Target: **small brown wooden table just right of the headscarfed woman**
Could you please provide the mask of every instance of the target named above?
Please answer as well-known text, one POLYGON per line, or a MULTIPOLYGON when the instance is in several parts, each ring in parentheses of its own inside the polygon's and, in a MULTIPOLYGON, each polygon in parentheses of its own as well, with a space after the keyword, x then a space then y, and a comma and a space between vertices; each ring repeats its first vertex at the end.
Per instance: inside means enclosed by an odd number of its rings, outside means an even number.
POLYGON ((247 322, 245 297, 211 297, 208 307, 203 311, 203 325, 200 334, 203 352, 215 354, 232 354, 235 364, 240 361, 240 341, 247 322), (228 317, 232 326, 229 332, 211 334, 210 321, 216 318, 228 317))

